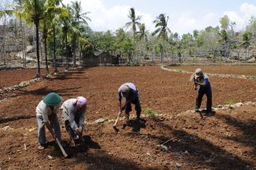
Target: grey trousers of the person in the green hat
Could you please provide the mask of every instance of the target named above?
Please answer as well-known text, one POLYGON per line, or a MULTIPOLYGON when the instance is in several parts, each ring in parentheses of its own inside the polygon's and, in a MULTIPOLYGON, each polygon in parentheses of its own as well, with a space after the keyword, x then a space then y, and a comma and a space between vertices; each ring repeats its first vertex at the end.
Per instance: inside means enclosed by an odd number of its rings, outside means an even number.
MULTIPOLYGON (((58 115, 54 114, 54 123, 53 123, 53 128, 54 128, 54 133, 55 136, 61 140, 61 128, 60 125, 58 124, 58 115)), ((46 128, 45 128, 45 123, 43 122, 43 116, 36 116, 37 123, 38 123, 38 138, 39 138, 39 144, 40 145, 45 145, 46 144, 46 128)))

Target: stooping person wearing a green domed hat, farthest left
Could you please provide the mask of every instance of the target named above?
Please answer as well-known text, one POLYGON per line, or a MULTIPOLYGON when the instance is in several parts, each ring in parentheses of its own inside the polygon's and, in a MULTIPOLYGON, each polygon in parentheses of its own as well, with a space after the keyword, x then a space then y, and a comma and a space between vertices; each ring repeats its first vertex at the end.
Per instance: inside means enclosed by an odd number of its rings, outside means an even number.
POLYGON ((36 107, 36 118, 38 123, 39 150, 43 150, 46 145, 46 132, 44 125, 48 128, 53 138, 61 141, 61 129, 58 124, 58 110, 62 98, 55 92, 50 92, 36 107))

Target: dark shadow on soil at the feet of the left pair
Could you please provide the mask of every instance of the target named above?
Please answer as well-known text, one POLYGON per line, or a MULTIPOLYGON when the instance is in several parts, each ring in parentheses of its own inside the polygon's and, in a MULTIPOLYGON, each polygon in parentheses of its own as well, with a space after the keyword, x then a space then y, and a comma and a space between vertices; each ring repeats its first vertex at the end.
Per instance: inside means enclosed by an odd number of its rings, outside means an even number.
MULTIPOLYGON (((143 168, 141 165, 133 161, 128 161, 125 156, 112 157, 105 150, 101 150, 101 146, 91 140, 91 136, 83 136, 84 142, 70 147, 69 143, 65 143, 65 151, 69 154, 69 158, 74 158, 76 163, 85 163, 87 169, 105 170, 105 169, 128 169, 128 170, 156 170, 156 168, 143 168), (95 149, 88 152, 89 149, 95 149)), ((61 150, 54 141, 47 143, 47 146, 54 146, 55 150, 50 153, 54 157, 63 157, 61 150)))

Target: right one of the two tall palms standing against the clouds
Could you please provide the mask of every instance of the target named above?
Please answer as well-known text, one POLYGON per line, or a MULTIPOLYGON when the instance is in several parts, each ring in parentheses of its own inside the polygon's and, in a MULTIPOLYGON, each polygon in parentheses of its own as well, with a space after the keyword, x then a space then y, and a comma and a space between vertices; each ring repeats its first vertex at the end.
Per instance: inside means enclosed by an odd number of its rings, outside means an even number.
MULTIPOLYGON (((169 16, 165 16, 165 14, 161 13, 159 16, 157 16, 156 20, 153 21, 155 24, 156 30, 152 33, 154 36, 155 34, 158 34, 158 38, 162 38, 164 42, 164 50, 165 50, 165 42, 168 41, 168 34, 171 33, 169 27, 167 26, 169 20, 169 16)), ((164 62, 164 56, 163 52, 161 53, 161 63, 164 62)))

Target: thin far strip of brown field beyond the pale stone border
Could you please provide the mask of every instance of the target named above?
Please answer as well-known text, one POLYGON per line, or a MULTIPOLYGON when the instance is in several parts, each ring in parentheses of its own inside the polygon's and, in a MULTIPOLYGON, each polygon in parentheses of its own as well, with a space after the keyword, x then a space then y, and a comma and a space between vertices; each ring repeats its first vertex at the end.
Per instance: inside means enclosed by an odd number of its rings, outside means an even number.
POLYGON ((206 73, 256 75, 256 65, 187 65, 169 68, 194 72, 198 67, 206 73))

